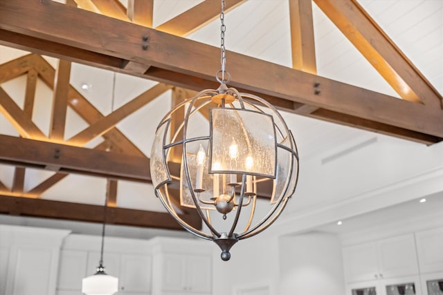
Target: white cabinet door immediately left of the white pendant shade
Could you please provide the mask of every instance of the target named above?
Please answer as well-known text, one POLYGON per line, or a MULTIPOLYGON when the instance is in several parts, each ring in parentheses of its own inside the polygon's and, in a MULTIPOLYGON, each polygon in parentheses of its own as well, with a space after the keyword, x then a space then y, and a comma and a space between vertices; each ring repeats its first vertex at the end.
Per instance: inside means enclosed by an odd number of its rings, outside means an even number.
POLYGON ((57 289, 82 289, 82 278, 86 276, 87 270, 87 257, 87 251, 61 251, 57 289))

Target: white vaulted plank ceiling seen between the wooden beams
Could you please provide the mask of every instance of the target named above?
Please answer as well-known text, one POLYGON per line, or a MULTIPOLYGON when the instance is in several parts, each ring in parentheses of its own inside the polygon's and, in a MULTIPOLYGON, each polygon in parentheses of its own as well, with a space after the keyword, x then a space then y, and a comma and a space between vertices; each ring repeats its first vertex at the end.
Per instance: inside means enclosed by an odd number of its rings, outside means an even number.
MULTIPOLYGON (((121 2, 127 6, 126 1, 121 2)), ((154 1, 154 27, 200 2, 154 1)), ((359 0, 359 3, 437 91, 443 94, 443 1, 359 0)), ((314 3, 313 12, 318 75, 398 97, 314 3)), ((219 26, 219 20, 216 19, 187 37, 219 46, 219 26)), ((227 50, 291 67, 287 0, 248 0, 226 14, 226 27, 227 50)), ((19 50, 1 47, 0 63, 24 54, 19 50)), ((218 56, 214 58, 219 59, 218 56)), ((56 65, 55 59, 47 59, 56 65)), ((228 54, 227 70, 229 62, 228 54)), ((138 77, 116 74, 113 103, 113 79, 114 73, 80 64, 74 64, 71 70, 71 84, 104 115, 156 84, 138 77), (81 89, 82 84, 89 84, 91 88, 84 91, 81 89)), ((24 95, 20 86, 22 83, 17 78, 2 86, 12 97, 18 97, 17 102, 20 102, 22 98, 19 97, 24 95)), ((49 124, 46 106, 51 104, 52 94, 40 83, 37 86, 37 97, 40 103, 35 106, 34 120, 46 131, 49 124)), ((118 128, 149 156, 156 124, 169 108, 170 91, 127 117, 118 124, 118 128)), ((283 115, 296 137, 300 153, 300 183, 285 213, 287 220, 291 220, 295 214, 306 216, 309 212, 321 212, 322 209, 336 209, 337 216, 341 214, 345 217, 379 209, 383 207, 378 199, 383 189, 388 190, 401 183, 406 185, 420 175, 424 177, 430 171, 443 169, 441 143, 428 147, 300 115, 283 115), (371 196, 377 199, 374 206, 341 213, 341 207, 345 208, 350 203, 359 207, 363 202, 366 204, 366 199, 371 196)), ((84 126, 86 123, 80 117, 69 112, 66 136, 74 135, 84 126)), ((1 115, 0 133, 18 135, 1 115)), ((51 175, 51 172, 33 169, 28 169, 27 173, 25 186, 28 188, 51 175)), ((3 183, 10 185, 12 175, 12 167, 0 166, 3 183)), ((387 193, 386 206, 419 198, 419 195, 417 191, 405 198, 397 198, 387 193)), ((46 191, 42 198, 103 204, 105 180, 69 175, 46 191)), ((149 184, 123 181, 119 182, 118 207, 163 211, 149 184)), ((330 216, 329 219, 334 218, 330 216)))

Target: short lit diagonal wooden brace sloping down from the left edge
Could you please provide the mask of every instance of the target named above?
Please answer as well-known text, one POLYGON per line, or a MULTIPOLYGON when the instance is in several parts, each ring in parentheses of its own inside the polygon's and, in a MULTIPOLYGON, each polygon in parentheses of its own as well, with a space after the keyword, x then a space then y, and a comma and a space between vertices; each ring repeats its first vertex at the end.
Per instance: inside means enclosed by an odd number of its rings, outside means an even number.
POLYGON ((0 87, 0 113, 19 131, 25 138, 47 140, 46 135, 30 120, 24 111, 17 106, 14 100, 0 87))

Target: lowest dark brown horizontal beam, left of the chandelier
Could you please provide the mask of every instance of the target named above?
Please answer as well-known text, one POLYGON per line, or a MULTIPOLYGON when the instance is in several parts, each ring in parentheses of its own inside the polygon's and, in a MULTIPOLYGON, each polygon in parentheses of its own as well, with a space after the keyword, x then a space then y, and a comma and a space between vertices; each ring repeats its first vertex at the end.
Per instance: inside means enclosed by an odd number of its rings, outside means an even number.
MULTIPOLYGON (((112 225, 184 230, 169 213, 111 207, 104 216, 102 206, 32 198, 0 196, 0 213, 98 223, 106 220, 112 225)), ((197 214, 180 217, 193 227, 201 228, 197 214)))

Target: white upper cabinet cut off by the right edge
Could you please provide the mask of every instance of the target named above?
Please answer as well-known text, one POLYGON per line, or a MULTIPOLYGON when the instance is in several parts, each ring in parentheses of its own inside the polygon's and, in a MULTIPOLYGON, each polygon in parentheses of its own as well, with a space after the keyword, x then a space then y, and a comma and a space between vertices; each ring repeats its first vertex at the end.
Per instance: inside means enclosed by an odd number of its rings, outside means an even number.
POLYGON ((420 272, 443 272, 443 228, 415 234, 420 272))

